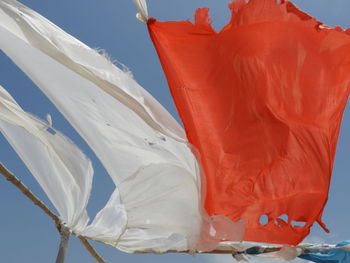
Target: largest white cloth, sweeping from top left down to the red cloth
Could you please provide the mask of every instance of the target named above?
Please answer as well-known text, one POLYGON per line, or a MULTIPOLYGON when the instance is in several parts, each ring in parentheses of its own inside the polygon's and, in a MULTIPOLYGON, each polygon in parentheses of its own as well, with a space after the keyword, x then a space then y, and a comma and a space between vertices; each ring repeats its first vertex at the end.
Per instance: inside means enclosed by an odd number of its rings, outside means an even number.
MULTIPOLYGON (((220 229, 231 222, 202 211, 200 172, 183 129, 129 72, 14 0, 0 2, 0 48, 86 140, 118 187, 121 203, 115 192, 82 235, 97 231, 93 239, 126 252, 210 249, 225 237, 220 229), (125 226, 114 219, 122 218, 118 211, 125 211, 125 226)), ((241 240, 242 224, 231 225, 226 237, 241 240)))

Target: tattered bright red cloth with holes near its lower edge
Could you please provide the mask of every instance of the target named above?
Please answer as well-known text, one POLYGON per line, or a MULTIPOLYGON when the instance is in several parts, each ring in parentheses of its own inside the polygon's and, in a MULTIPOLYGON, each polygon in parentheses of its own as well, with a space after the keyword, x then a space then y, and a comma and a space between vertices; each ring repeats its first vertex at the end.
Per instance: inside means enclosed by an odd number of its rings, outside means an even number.
POLYGON ((207 212, 245 220, 246 241, 295 245, 321 223, 327 201, 349 93, 350 36, 287 1, 230 8, 220 32, 205 8, 195 24, 150 19, 149 32, 201 155, 207 212))

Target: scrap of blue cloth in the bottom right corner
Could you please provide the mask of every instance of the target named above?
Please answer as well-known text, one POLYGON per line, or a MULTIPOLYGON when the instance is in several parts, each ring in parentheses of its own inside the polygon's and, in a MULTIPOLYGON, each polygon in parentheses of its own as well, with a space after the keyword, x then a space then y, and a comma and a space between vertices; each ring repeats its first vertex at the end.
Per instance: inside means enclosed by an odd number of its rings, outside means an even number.
POLYGON ((344 241, 334 248, 314 248, 315 252, 308 252, 299 257, 316 263, 349 263, 350 241, 344 241), (317 251, 318 250, 318 251, 317 251))

